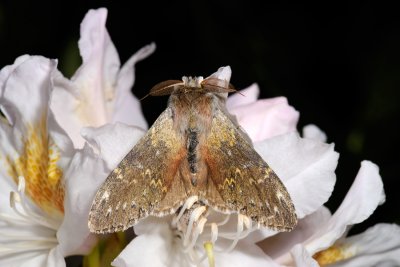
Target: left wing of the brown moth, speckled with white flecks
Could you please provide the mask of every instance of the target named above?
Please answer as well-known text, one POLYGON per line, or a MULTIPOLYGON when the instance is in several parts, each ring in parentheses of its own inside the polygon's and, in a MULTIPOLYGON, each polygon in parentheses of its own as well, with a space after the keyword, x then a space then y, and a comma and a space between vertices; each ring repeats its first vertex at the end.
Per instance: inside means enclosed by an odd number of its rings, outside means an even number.
POLYGON ((177 209, 186 197, 176 177, 183 157, 183 142, 173 129, 172 110, 167 108, 98 190, 89 229, 122 231, 148 215, 163 216, 177 209))

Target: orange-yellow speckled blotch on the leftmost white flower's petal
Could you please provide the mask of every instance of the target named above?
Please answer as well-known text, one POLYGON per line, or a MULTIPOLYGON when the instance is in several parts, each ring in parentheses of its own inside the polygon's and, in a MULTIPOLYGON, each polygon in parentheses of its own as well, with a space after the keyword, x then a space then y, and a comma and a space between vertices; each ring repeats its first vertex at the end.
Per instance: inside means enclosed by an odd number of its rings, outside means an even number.
POLYGON ((25 178, 26 195, 44 211, 63 214, 65 192, 59 159, 59 149, 48 136, 45 119, 35 127, 27 127, 19 158, 6 157, 14 181, 18 183, 19 176, 25 178))

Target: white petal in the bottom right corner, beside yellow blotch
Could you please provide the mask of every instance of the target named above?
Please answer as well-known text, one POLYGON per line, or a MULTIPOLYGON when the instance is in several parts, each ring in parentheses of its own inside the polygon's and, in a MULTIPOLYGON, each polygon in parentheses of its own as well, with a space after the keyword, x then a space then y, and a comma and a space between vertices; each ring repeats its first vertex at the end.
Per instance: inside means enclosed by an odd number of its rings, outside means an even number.
POLYGON ((400 266, 400 227, 396 224, 377 224, 335 245, 348 257, 329 266, 400 266))

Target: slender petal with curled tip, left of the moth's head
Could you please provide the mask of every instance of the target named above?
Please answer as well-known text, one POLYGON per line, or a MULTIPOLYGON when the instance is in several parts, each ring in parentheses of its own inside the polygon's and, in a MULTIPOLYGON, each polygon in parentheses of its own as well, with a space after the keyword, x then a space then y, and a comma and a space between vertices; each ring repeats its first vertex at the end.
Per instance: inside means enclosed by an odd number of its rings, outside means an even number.
POLYGON ((133 96, 131 87, 135 81, 135 64, 154 52, 156 45, 149 44, 136 52, 121 68, 115 90, 112 122, 122 122, 147 129, 139 100, 133 96), (138 114, 133 116, 133 114, 138 114))

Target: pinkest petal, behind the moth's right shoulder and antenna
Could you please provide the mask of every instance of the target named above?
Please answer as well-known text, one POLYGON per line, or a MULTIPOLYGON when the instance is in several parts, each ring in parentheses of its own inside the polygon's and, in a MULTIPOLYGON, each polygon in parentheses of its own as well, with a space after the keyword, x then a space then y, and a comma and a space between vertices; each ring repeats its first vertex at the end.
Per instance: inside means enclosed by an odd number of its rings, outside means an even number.
POLYGON ((258 95, 257 85, 228 98, 229 113, 236 116, 240 126, 253 142, 262 141, 277 135, 296 131, 299 112, 288 105, 285 97, 276 97, 253 101, 258 95), (249 94, 249 99, 247 99, 249 94), (240 101, 240 97, 243 98, 240 101))

